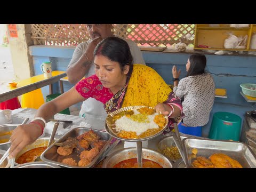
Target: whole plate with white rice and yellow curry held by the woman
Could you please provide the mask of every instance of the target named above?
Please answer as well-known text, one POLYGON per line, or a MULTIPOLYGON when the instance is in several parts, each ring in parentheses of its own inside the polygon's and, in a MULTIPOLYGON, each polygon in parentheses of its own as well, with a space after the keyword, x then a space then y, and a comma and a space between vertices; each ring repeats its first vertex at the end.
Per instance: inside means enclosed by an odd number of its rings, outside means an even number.
POLYGON ((119 140, 137 142, 156 137, 167 124, 168 117, 153 107, 130 106, 108 114, 105 130, 119 140))

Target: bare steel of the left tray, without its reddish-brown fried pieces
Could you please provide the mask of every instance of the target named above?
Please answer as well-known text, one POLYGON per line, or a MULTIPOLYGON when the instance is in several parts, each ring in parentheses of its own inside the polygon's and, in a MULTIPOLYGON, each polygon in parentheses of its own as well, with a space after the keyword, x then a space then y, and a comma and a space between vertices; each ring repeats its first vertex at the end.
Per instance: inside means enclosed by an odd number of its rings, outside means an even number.
MULTIPOLYGON (((53 145, 51 145, 49 148, 47 148, 42 153, 41 159, 44 162, 52 163, 52 164, 55 164, 55 165, 60 165, 60 166, 63 166, 63 167, 69 167, 69 168, 89 168, 89 167, 92 167, 95 163, 97 163, 98 159, 101 158, 101 156, 103 156, 103 153, 108 149, 112 139, 113 139, 113 137, 111 137, 111 135, 109 135, 105 131, 95 130, 95 129, 91 129, 91 128, 87 128, 87 127, 76 127, 74 129, 71 129, 70 131, 68 131, 60 139, 55 141, 53 143, 53 145), (103 148, 100 150, 99 154, 92 160, 92 162, 89 165, 84 166, 84 167, 71 166, 71 165, 67 165, 67 164, 58 162, 58 157, 65 157, 65 156, 61 156, 61 155, 59 155, 57 153, 58 146, 55 146, 54 143, 64 142, 64 141, 66 141, 66 139, 68 137, 77 137, 77 136, 83 134, 84 132, 87 132, 87 131, 90 131, 90 130, 92 130, 95 133, 97 133, 98 135, 100 135, 100 138, 101 138, 100 140, 106 140, 107 141, 105 146, 103 146, 103 148)), ((73 153, 71 155, 72 155, 73 159, 75 159, 76 162, 78 163, 79 157, 78 157, 78 154, 76 153, 76 151, 73 151, 73 153)))

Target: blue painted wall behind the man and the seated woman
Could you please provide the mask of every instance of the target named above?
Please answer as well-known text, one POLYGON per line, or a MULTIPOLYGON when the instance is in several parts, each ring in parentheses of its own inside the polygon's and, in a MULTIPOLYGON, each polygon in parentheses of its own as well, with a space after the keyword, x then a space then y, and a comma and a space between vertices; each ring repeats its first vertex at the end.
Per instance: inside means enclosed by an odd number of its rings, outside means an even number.
MULTIPOLYGON (((35 45, 29 47, 30 55, 34 58, 35 75, 41 74, 40 65, 43 61, 51 61, 53 70, 65 70, 71 60, 75 47, 35 45)), ((172 67, 181 69, 181 78, 186 75, 186 63, 191 53, 162 53, 142 51, 143 58, 148 66, 154 68, 167 84, 172 84, 172 67)), ((206 54, 206 69, 214 74, 232 74, 256 76, 256 57, 253 55, 212 55, 206 54)), ((256 83, 255 77, 217 76, 212 75, 217 88, 227 89, 228 98, 215 98, 210 121, 203 127, 203 136, 207 137, 210 131, 212 115, 217 111, 228 111, 242 118, 245 111, 253 110, 252 103, 246 102, 239 93, 241 83, 256 83)), ((64 90, 72 85, 64 82, 64 90)), ((49 88, 42 88, 44 97, 49 94, 49 88)), ((54 93, 59 93, 59 85, 55 83, 54 93)), ((80 107, 81 103, 76 105, 80 107)))

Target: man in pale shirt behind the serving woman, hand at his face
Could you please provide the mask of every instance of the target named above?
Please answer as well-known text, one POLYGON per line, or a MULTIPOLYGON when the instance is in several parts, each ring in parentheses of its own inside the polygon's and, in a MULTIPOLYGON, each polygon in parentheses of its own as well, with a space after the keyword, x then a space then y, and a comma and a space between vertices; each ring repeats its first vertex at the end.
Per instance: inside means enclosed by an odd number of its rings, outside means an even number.
MULTIPOLYGON (((71 84, 76 84, 83 77, 90 77, 95 74, 92 62, 93 51, 103 38, 114 36, 111 28, 113 28, 112 24, 87 24, 87 31, 91 39, 77 45, 68 65, 67 75, 68 81, 71 84)), ((137 63, 145 65, 142 53, 137 44, 130 39, 122 39, 129 44, 133 57, 133 64, 137 63)), ((89 98, 83 102, 79 116, 104 120, 107 117, 107 113, 101 102, 89 98)))

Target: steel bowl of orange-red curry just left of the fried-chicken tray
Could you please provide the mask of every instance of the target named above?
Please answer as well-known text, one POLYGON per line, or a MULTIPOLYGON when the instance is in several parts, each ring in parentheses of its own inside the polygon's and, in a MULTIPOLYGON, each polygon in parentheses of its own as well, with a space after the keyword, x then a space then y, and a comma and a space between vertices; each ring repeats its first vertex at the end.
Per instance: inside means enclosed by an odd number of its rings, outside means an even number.
MULTIPOLYGON (((37 161, 37 157, 41 156, 41 154, 47 148, 50 137, 44 137, 37 139, 31 145, 23 148, 20 153, 15 158, 15 164, 24 164, 31 163, 37 161)), ((57 139, 54 138, 54 141, 57 139)))

